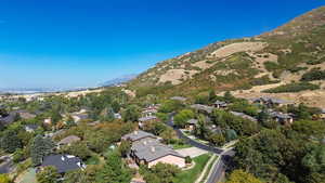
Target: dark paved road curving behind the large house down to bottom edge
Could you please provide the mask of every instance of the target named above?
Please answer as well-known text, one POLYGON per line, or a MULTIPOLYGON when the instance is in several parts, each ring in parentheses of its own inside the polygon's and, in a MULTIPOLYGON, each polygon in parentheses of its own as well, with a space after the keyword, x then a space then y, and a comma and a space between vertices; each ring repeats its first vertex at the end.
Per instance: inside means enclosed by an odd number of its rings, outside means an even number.
POLYGON ((217 164, 214 164, 213 167, 211 168, 212 172, 211 172, 210 177, 208 178, 207 183, 217 183, 217 182, 221 181, 223 172, 226 169, 225 165, 226 165, 227 160, 235 155, 235 152, 232 151, 231 148, 223 151, 221 148, 205 145, 205 144, 202 144, 197 141, 190 139, 180 129, 178 129, 173 126, 172 115, 170 116, 170 120, 167 122, 167 125, 172 127, 173 130, 177 132, 177 135, 180 139, 183 139, 190 145, 214 153, 214 154, 221 156, 221 159, 217 164))

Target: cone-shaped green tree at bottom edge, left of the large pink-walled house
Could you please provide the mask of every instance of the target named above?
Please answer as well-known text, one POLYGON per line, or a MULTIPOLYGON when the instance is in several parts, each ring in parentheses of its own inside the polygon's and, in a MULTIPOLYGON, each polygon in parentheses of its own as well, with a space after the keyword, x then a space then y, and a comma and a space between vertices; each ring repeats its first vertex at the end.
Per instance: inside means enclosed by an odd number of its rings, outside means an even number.
POLYGON ((121 158, 116 152, 112 153, 101 171, 96 175, 98 183, 129 183, 131 172, 123 165, 121 158))

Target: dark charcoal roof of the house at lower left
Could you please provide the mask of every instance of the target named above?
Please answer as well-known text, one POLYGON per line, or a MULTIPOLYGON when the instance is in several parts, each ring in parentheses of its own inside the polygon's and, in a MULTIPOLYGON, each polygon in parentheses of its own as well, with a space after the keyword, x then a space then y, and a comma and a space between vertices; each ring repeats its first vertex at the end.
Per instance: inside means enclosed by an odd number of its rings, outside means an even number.
POLYGON ((41 167, 53 166, 58 173, 82 168, 81 159, 72 155, 50 155, 43 158, 41 167))

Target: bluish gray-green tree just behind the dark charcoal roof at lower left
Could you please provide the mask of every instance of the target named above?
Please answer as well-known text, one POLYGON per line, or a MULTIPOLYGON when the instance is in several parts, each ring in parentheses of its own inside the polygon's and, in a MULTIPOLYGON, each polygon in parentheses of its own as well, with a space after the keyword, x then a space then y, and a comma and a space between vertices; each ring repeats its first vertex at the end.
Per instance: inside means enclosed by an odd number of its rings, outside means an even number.
POLYGON ((30 146, 30 156, 32 164, 35 166, 40 165, 42 158, 52 153, 54 148, 54 143, 49 138, 42 138, 41 135, 37 135, 30 146))

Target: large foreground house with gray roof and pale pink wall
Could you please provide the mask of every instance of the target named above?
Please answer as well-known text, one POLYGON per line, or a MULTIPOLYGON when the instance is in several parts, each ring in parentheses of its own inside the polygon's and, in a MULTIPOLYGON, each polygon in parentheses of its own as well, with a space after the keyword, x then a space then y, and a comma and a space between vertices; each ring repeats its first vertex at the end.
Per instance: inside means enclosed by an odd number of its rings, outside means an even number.
POLYGON ((148 168, 158 162, 174 165, 179 168, 186 166, 185 157, 152 138, 144 138, 133 142, 130 157, 132 157, 138 165, 147 165, 148 168))

